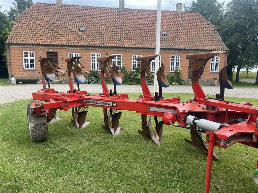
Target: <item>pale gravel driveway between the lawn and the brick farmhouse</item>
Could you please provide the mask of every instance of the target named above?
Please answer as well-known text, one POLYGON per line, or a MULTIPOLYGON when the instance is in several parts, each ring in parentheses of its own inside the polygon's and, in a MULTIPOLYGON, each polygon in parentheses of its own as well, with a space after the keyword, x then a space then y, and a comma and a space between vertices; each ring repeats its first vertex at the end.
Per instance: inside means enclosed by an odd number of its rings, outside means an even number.
MULTIPOLYGON (((76 85, 74 85, 76 87, 76 85)), ((51 87, 59 92, 66 92, 69 89, 68 84, 53 84, 51 87)), ((113 85, 108 85, 113 89, 113 85)), ((31 93, 36 92, 42 88, 41 84, 16 84, 16 85, 2 85, 0 86, 0 103, 11 102, 20 99, 32 98, 31 93)), ((154 90, 154 86, 149 86, 150 90, 154 90)), ((207 94, 219 93, 219 86, 202 86, 204 92, 207 94)), ((101 93, 101 85, 82 84, 80 90, 87 90, 88 93, 101 93)), ((117 86, 119 93, 142 93, 139 85, 120 85, 117 86)), ((164 93, 193 93, 192 86, 174 86, 170 85, 163 89, 164 93)), ((235 87, 233 90, 225 89, 225 96, 239 97, 239 98, 258 98, 258 88, 251 87, 235 87)))

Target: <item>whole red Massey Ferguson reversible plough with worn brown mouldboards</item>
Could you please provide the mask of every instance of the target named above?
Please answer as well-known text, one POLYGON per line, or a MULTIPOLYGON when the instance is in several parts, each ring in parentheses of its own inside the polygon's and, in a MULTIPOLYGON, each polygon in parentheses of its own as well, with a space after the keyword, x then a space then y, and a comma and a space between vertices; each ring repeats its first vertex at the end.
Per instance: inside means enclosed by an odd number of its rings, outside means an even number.
MULTIPOLYGON (((140 95, 137 100, 129 99, 127 93, 117 93, 116 86, 122 84, 122 79, 119 76, 118 67, 112 63, 112 59, 116 56, 97 58, 100 63, 103 92, 94 96, 88 94, 87 91, 81 91, 79 88, 79 84, 83 84, 85 81, 84 73, 87 73, 80 63, 82 57, 65 59, 70 87, 70 90, 66 93, 50 88, 50 82, 55 79, 55 74, 61 72, 60 67, 52 61, 53 58, 42 58, 39 62, 41 64, 43 89, 32 93, 32 95, 34 100, 45 102, 34 101, 28 105, 27 113, 31 140, 39 142, 47 139, 47 122, 60 119, 58 116, 60 110, 68 111, 71 108, 72 123, 76 127, 82 128, 88 124, 88 122, 85 122, 88 106, 101 107, 104 115, 102 127, 114 136, 120 133, 119 119, 122 112, 118 111, 135 111, 142 115, 142 130, 139 130, 139 133, 158 146, 160 146, 162 140, 163 124, 190 129, 191 140, 185 139, 185 141, 208 153, 205 181, 205 193, 208 193, 212 159, 213 157, 219 159, 214 152, 214 146, 228 148, 238 142, 257 148, 258 107, 253 107, 251 102, 236 103, 224 100, 224 89, 233 88, 226 74, 228 65, 223 67, 219 73, 220 94, 217 94, 216 98, 207 97, 199 84, 198 79, 203 73, 207 61, 224 52, 213 51, 187 55, 187 59, 193 59, 189 69, 192 74, 192 88, 195 96, 186 102, 180 102, 180 97, 165 99, 162 96, 162 88, 169 86, 164 74, 163 63, 157 72, 159 92, 156 92, 154 96, 151 95, 146 83, 146 74, 149 79, 152 78, 150 63, 159 55, 137 57, 137 60, 141 61, 141 87, 143 91, 143 95, 140 95), (77 83, 77 89, 72 84, 71 73, 77 83), (114 92, 111 89, 108 90, 105 74, 112 79, 114 92), (45 81, 48 82, 48 88, 45 81), (59 111, 56 116, 57 110, 59 111), (154 126, 151 116, 154 116, 154 126), (159 117, 161 120, 158 121, 159 117), (190 125, 190 127, 187 127, 187 125, 190 125), (206 134, 206 140, 203 140, 201 133, 206 134)), ((253 179, 258 184, 258 170, 256 170, 253 179)))

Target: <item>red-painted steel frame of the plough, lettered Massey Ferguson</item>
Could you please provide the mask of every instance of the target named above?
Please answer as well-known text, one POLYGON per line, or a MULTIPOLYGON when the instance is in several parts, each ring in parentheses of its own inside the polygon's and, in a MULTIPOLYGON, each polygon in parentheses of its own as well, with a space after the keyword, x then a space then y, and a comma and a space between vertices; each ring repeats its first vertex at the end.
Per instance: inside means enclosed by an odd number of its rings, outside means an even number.
MULTIPOLYGON (((140 96, 137 100, 128 99, 128 94, 126 93, 109 96, 107 85, 104 81, 104 74, 101 74, 102 88, 104 92, 100 93, 99 95, 90 96, 87 91, 76 91, 71 93, 71 90, 69 90, 67 93, 59 93, 51 88, 44 88, 40 91, 32 93, 34 100, 45 101, 43 103, 43 113, 41 111, 37 111, 37 108, 41 108, 41 106, 35 106, 32 103, 31 108, 34 112, 32 113, 32 116, 51 113, 51 109, 54 108, 68 111, 73 107, 93 106, 117 110, 135 111, 137 113, 158 117, 163 117, 166 112, 172 112, 178 124, 182 126, 187 126, 186 117, 190 113, 195 113, 198 115, 199 119, 203 118, 221 123, 226 123, 230 119, 246 119, 247 121, 240 122, 238 124, 226 124, 223 126, 223 128, 216 132, 211 131, 206 133, 206 141, 208 142, 209 147, 205 193, 208 193, 211 180, 213 146, 227 148, 238 142, 258 148, 258 131, 255 131, 255 122, 258 118, 258 107, 251 106, 252 104, 250 102, 237 104, 228 101, 209 99, 207 98, 198 82, 198 72, 193 71, 193 77, 196 77, 193 78, 192 81, 192 88, 195 94, 195 98, 189 99, 189 101, 186 102, 180 102, 180 97, 171 97, 168 99, 159 99, 157 101, 153 101, 152 95, 146 84, 145 77, 141 78, 142 90, 146 91, 144 92, 145 95, 140 96), (117 107, 106 106, 105 102, 116 102, 117 107), (153 110, 153 108, 155 110, 153 110), (222 140, 227 142, 226 145, 221 146, 220 143, 222 140)), ((69 86, 74 88, 71 83, 69 83, 69 86)))

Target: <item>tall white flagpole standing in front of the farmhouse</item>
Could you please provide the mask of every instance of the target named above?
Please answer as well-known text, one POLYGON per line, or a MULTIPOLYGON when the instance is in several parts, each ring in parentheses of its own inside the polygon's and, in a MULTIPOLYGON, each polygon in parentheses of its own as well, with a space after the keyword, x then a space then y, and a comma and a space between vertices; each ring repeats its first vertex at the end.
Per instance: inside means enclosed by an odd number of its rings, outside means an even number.
MULTIPOLYGON (((156 50, 155 54, 159 54, 160 47, 160 20, 161 20, 161 0, 158 0, 157 6, 157 25, 156 25, 156 50)), ((159 57, 155 58, 155 73, 154 73, 154 95, 155 92, 158 92, 158 80, 157 80, 157 71, 159 68, 159 57)))

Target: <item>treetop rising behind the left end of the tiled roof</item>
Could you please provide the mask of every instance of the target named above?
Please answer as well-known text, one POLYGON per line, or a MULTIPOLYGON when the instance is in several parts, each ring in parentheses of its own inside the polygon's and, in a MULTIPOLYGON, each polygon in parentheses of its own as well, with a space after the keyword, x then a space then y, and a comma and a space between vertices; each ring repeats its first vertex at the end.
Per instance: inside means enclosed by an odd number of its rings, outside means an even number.
POLYGON ((10 8, 10 11, 7 11, 9 17, 12 19, 33 5, 32 0, 14 0, 14 1, 15 2, 13 2, 13 7, 10 8))

